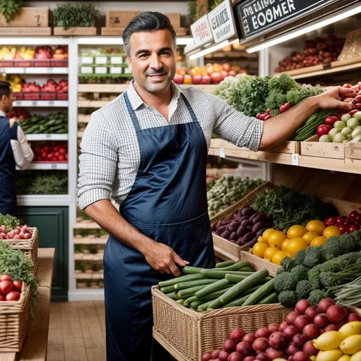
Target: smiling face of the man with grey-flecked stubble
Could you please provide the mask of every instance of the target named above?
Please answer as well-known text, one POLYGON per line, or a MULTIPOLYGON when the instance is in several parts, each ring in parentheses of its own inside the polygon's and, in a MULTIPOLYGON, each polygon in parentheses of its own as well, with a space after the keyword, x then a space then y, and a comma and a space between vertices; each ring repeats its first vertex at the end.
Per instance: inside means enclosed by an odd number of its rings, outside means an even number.
POLYGON ((166 90, 176 73, 171 32, 135 32, 130 37, 128 62, 137 85, 152 93, 166 90))

